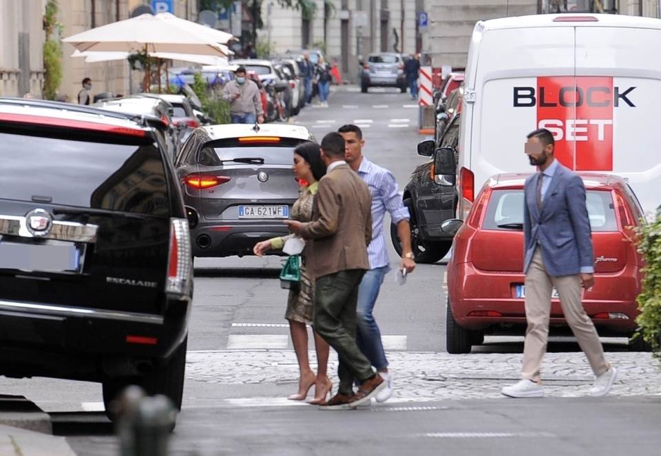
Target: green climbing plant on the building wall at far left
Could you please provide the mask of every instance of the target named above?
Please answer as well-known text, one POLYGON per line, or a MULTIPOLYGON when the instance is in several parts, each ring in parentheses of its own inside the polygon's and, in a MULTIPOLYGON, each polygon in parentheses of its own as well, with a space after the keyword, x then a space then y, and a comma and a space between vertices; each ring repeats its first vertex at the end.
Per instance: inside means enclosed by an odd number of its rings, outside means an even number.
POLYGON ((62 82, 62 46, 59 36, 63 26, 57 21, 59 5, 57 0, 48 0, 43 15, 43 30, 46 41, 43 43, 43 96, 54 100, 62 82))

